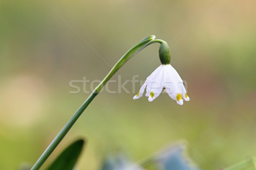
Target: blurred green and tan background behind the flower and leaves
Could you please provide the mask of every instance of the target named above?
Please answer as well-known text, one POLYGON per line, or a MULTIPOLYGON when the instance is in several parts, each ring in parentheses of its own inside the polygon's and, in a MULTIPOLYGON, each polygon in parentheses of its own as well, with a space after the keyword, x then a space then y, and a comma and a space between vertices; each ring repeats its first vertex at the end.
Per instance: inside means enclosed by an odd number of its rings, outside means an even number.
MULTIPOLYGON (((256 1, 213 0, 205 8, 209 3, 1 0, 0 169, 34 164, 89 96, 69 94, 70 80, 104 78, 111 67, 99 56, 113 66, 151 34, 169 42, 171 64, 186 80, 190 101, 180 106, 161 94, 149 103, 145 96, 134 101, 125 91, 103 91, 47 163, 108 104, 79 134, 88 143, 78 170, 99 169, 116 150, 139 161, 181 137, 214 169, 256 156, 256 1)), ((112 79, 145 80, 160 65, 157 55, 158 45, 150 45, 112 79)), ((131 91, 131 83, 125 88, 131 91)), ((135 94, 139 89, 136 84, 135 94)), ((190 157, 210 169, 191 147, 190 157)))

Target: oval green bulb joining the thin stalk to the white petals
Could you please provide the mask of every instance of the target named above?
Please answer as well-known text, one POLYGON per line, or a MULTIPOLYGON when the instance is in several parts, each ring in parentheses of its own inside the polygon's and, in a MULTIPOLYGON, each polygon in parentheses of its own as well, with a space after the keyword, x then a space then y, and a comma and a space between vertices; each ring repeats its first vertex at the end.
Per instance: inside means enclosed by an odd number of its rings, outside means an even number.
POLYGON ((167 44, 166 41, 162 41, 160 43, 159 47, 159 58, 160 61, 163 65, 170 64, 171 61, 171 53, 170 53, 170 48, 169 45, 167 44))

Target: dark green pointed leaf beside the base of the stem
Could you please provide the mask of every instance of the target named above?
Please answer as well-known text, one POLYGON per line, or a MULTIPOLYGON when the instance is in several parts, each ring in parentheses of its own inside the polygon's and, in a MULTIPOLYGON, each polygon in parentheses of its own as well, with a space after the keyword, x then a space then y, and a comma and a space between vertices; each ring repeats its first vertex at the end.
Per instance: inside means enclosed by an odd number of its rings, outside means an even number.
POLYGON ((67 147, 47 170, 72 170, 81 153, 84 140, 80 139, 67 147))

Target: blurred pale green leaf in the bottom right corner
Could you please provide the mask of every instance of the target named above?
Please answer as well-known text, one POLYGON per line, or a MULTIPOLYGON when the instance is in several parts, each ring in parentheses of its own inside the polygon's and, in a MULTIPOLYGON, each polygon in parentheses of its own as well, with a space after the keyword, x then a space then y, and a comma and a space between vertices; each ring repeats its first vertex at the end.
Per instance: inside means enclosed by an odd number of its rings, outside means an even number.
POLYGON ((234 164, 224 170, 256 170, 256 157, 234 164))

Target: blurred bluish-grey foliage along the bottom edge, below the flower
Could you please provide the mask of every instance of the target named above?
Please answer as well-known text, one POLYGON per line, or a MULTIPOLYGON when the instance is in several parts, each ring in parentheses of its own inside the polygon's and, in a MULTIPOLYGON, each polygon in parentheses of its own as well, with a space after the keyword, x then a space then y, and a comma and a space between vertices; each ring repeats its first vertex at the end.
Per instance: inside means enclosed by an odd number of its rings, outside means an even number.
POLYGON ((199 170, 188 156, 184 145, 170 145, 142 162, 132 163, 122 154, 109 156, 101 170, 199 170))

